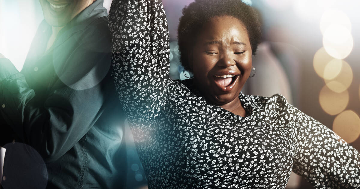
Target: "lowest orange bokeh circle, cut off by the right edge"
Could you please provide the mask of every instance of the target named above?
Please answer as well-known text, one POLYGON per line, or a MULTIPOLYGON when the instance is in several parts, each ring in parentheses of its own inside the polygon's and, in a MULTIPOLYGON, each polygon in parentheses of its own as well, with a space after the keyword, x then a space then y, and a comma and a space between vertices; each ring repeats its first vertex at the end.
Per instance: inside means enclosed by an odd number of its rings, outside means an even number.
POLYGON ((336 116, 333 131, 347 143, 354 142, 360 135, 360 118, 351 110, 344 111, 336 116))

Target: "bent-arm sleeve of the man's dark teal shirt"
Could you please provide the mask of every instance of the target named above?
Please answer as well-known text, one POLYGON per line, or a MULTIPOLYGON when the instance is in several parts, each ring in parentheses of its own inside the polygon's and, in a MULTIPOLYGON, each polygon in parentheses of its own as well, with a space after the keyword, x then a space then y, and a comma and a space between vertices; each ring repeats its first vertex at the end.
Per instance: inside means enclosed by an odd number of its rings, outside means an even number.
POLYGON ((110 40, 109 30, 85 30, 77 46, 70 49, 71 56, 64 58, 56 72, 59 79, 47 88, 47 96, 35 94, 8 59, 0 60, 0 112, 45 162, 71 149, 102 114, 106 89, 97 81, 111 64, 110 40))

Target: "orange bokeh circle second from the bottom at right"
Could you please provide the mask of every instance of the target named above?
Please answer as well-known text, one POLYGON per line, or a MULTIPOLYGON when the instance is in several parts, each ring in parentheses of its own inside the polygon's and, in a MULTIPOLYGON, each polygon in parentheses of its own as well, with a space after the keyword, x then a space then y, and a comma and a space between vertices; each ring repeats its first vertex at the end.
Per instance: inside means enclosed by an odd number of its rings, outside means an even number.
POLYGON ((342 93, 335 93, 326 85, 321 89, 319 94, 319 102, 321 108, 330 114, 336 115, 344 111, 349 103, 349 93, 347 90, 342 93))

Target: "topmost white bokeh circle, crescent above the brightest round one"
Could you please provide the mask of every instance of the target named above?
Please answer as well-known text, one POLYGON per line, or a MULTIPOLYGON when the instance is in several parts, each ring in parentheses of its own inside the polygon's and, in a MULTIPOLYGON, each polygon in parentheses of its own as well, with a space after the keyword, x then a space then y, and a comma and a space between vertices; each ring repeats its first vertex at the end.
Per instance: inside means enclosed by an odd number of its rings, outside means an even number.
POLYGON ((351 22, 345 13, 336 9, 328 9, 320 19, 320 31, 324 34, 325 30, 332 24, 339 24, 351 31, 351 22))

